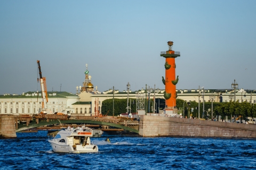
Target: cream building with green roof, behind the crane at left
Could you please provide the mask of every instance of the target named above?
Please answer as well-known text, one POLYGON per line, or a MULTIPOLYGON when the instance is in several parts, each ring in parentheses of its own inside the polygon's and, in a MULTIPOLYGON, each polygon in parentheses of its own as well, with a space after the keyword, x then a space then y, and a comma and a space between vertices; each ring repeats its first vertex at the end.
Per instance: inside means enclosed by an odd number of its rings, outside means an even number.
MULTIPOLYGON (((69 111, 74 113, 72 104, 78 101, 76 95, 68 92, 53 92, 48 95, 46 107, 52 113, 69 111)), ((0 95, 0 114, 38 114, 38 109, 42 108, 42 97, 37 92, 27 92, 22 95, 0 95)))

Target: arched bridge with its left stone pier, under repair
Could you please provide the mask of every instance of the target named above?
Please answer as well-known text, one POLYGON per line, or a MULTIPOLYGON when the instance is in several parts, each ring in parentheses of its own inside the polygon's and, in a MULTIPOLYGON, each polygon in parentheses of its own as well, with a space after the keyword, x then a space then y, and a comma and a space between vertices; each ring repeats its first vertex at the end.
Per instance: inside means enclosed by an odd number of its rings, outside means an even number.
POLYGON ((139 121, 133 118, 119 116, 81 116, 74 114, 67 115, 0 115, 0 139, 1 138, 17 138, 16 132, 25 131, 39 126, 53 124, 98 124, 113 126, 118 129, 124 129, 139 133, 139 121))

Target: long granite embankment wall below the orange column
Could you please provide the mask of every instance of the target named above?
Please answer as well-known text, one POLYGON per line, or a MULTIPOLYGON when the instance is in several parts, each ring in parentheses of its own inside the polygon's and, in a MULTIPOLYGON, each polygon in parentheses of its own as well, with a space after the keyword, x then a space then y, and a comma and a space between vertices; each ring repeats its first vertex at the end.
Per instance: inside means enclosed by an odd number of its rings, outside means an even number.
POLYGON ((256 125, 199 119, 140 116, 142 137, 256 138, 256 125))

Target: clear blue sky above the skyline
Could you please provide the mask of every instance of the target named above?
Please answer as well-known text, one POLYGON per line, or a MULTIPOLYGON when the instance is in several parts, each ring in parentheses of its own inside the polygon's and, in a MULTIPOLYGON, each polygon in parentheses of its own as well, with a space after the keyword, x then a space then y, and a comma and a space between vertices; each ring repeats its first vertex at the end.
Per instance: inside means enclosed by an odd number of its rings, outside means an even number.
POLYGON ((256 1, 0 1, 0 94, 76 92, 88 64, 99 91, 164 89, 167 41, 177 89, 256 89, 256 1))

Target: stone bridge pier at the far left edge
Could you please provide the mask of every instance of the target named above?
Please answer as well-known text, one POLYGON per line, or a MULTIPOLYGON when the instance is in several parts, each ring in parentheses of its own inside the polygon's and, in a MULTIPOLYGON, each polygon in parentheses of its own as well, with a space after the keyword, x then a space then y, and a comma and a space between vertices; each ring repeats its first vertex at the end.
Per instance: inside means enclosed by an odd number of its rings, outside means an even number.
POLYGON ((0 117, 0 139, 17 138, 14 115, 1 115, 0 117))

